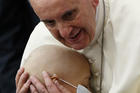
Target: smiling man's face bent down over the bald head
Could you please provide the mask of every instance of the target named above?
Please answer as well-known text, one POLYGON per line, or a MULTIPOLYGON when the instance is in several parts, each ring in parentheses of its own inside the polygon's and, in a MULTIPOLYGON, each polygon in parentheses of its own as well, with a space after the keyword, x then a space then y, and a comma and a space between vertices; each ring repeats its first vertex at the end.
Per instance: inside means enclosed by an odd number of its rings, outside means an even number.
POLYGON ((94 0, 31 0, 52 35, 74 49, 85 48, 95 34, 94 0))

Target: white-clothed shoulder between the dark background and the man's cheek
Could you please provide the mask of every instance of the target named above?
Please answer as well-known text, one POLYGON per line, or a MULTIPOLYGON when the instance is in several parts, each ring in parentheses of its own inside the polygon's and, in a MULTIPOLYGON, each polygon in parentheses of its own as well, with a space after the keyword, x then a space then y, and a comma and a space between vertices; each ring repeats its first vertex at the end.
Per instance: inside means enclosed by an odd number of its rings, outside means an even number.
POLYGON ((24 50, 24 54, 21 61, 21 66, 26 60, 26 58, 29 56, 29 54, 37 47, 42 46, 44 44, 55 44, 63 46, 59 41, 57 41, 51 33, 48 31, 46 26, 43 22, 40 22, 35 29, 33 30, 32 34, 30 35, 30 38, 28 40, 28 43, 26 45, 26 48, 24 50))

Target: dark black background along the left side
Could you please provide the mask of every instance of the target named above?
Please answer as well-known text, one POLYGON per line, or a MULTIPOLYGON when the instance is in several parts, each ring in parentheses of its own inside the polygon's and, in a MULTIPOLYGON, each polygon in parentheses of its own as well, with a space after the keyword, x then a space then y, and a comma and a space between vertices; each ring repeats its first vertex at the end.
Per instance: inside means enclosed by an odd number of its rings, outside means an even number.
POLYGON ((15 75, 38 22, 28 0, 0 0, 0 93, 16 93, 15 75))

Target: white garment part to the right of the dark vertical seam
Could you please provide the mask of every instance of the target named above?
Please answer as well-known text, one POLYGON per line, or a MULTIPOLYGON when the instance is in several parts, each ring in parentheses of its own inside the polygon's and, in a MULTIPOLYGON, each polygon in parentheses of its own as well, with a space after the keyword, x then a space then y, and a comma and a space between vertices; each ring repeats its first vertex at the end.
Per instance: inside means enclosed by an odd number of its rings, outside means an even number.
POLYGON ((140 0, 105 1, 103 93, 140 93, 140 0))

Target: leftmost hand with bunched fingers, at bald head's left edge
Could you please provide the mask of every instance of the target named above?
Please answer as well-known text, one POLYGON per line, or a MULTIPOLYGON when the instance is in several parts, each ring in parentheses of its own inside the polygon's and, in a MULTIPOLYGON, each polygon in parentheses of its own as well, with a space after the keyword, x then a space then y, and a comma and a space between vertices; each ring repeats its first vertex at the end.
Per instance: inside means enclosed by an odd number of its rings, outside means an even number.
POLYGON ((16 93, 28 93, 31 81, 28 79, 29 74, 20 68, 16 75, 16 93))

